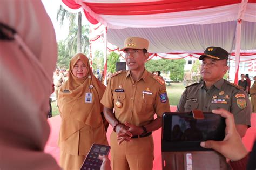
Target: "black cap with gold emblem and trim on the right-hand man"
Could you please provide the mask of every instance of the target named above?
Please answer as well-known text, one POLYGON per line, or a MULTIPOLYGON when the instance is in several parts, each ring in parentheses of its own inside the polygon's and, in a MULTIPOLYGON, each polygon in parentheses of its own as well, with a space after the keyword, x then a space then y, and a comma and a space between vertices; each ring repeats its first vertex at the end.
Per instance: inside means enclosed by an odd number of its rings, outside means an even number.
POLYGON ((210 57, 215 60, 228 60, 228 52, 221 47, 210 46, 204 51, 204 54, 199 57, 203 60, 204 57, 210 57))

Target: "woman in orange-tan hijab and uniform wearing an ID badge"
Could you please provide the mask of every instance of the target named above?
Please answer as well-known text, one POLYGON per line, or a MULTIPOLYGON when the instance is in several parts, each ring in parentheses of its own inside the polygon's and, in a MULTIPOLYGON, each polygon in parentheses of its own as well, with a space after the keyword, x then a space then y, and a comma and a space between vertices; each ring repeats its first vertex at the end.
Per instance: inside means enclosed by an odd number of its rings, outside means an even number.
POLYGON ((62 117, 58 144, 63 169, 80 169, 93 143, 107 145, 108 124, 100 104, 105 88, 93 75, 85 55, 78 53, 71 58, 69 79, 58 97, 62 117))

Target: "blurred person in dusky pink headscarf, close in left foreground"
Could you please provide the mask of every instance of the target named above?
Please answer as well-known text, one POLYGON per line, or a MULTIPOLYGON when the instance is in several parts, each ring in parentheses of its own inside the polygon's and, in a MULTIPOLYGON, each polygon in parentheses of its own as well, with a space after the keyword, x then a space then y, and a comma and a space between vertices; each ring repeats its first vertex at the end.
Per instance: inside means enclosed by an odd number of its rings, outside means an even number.
POLYGON ((60 169, 44 152, 55 32, 41 1, 0 5, 0 169, 60 169))

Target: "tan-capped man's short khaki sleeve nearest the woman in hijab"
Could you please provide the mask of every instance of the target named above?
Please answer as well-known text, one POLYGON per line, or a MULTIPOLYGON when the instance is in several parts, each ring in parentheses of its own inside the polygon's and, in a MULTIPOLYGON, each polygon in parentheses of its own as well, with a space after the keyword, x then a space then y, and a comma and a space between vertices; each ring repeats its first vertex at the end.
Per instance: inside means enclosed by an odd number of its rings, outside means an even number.
POLYGON ((100 103, 102 103, 107 108, 114 108, 112 81, 110 81, 109 85, 107 85, 100 103))

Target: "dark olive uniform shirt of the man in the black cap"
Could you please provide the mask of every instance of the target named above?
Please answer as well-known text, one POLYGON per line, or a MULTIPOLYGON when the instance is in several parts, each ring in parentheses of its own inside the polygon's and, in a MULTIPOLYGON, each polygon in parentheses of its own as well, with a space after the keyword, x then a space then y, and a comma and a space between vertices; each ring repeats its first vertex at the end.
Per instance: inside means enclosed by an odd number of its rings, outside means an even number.
POLYGON ((235 124, 251 126, 252 107, 245 91, 224 79, 206 89, 204 81, 187 86, 183 92, 177 112, 190 112, 198 109, 211 112, 213 109, 224 108, 234 115, 235 124))

